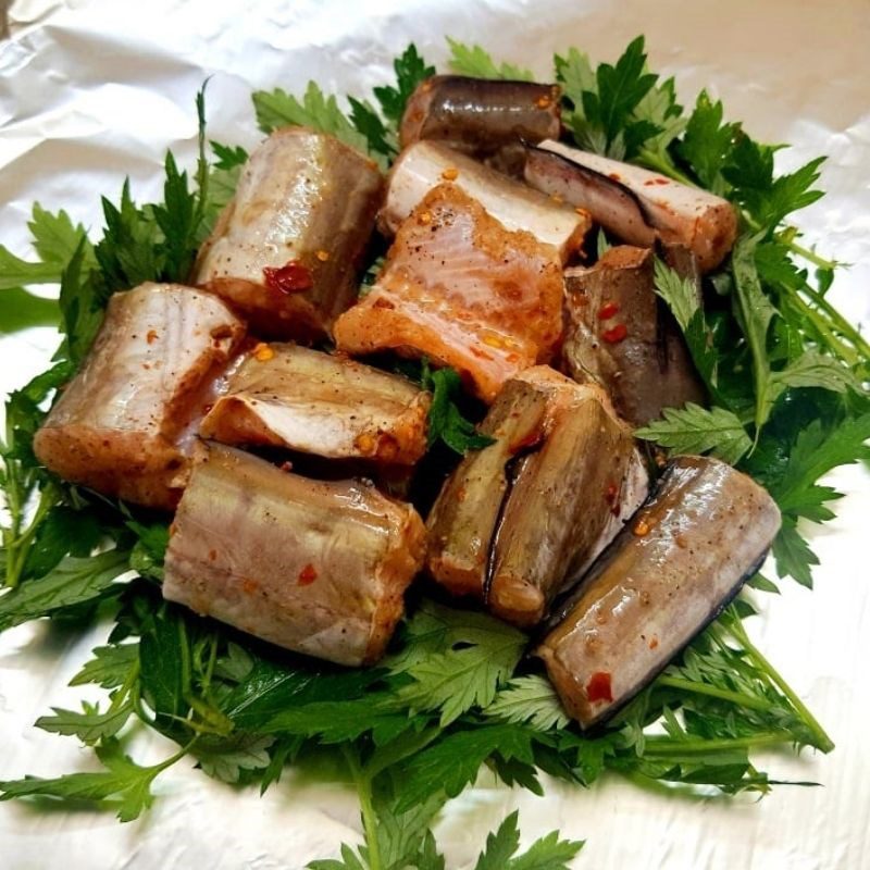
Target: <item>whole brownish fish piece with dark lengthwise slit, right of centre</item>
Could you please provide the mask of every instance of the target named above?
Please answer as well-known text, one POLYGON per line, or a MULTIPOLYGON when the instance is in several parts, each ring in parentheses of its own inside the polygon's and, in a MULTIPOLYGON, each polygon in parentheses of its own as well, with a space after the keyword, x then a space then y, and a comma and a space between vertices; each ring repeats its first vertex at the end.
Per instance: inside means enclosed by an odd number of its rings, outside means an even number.
POLYGON ((548 366, 509 381, 481 431, 495 444, 465 457, 438 496, 427 569, 534 625, 643 501, 646 471, 607 396, 548 366))

